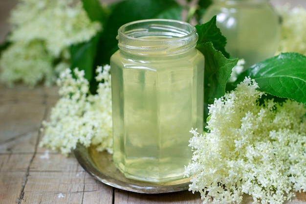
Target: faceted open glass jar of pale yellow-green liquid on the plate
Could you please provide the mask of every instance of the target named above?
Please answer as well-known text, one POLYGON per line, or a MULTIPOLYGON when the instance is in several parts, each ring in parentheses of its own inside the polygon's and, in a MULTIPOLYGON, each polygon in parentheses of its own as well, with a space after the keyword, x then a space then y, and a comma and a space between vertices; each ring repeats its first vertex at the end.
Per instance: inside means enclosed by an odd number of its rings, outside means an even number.
POLYGON ((194 26, 141 20, 118 30, 110 58, 113 162, 130 179, 183 178, 192 127, 203 128, 204 56, 194 26))

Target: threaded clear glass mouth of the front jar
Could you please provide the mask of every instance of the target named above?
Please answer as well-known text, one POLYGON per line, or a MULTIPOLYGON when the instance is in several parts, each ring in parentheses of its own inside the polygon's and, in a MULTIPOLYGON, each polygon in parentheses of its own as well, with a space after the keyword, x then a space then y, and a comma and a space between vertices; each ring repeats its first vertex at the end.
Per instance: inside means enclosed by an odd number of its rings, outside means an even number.
POLYGON ((185 52, 196 46, 197 39, 194 26, 167 19, 140 20, 124 24, 118 29, 117 36, 120 50, 140 55, 185 52))

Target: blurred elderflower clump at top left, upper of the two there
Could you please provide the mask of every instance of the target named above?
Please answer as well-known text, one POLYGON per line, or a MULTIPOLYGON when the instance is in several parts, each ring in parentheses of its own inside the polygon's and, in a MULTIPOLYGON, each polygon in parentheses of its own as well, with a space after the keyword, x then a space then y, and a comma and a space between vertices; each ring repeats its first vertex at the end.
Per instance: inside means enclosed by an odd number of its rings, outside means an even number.
POLYGON ((59 57, 68 46, 87 42, 101 30, 101 23, 91 22, 77 0, 21 0, 12 11, 10 40, 43 40, 48 52, 59 57))

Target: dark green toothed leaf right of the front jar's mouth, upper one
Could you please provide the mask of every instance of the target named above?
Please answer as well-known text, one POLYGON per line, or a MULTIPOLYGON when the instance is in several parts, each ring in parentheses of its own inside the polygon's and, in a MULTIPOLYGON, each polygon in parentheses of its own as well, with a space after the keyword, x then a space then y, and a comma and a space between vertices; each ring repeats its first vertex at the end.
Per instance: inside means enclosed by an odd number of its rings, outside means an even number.
POLYGON ((222 35, 216 22, 217 17, 214 16, 209 22, 196 25, 198 44, 212 42, 214 47, 221 51, 224 57, 229 58, 229 53, 225 51, 226 38, 222 35))

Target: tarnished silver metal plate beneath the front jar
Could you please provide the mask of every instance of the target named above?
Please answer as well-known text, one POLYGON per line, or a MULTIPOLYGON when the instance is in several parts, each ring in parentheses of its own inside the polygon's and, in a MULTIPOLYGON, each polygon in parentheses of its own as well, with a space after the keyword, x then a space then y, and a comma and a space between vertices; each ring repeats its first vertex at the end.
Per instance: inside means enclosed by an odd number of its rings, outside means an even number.
POLYGON ((190 178, 175 181, 151 183, 127 179, 113 164, 107 152, 98 152, 95 147, 77 145, 74 155, 80 165, 98 181, 112 187, 136 193, 158 194, 187 190, 190 178))

